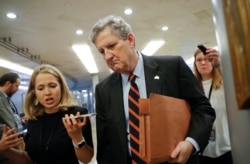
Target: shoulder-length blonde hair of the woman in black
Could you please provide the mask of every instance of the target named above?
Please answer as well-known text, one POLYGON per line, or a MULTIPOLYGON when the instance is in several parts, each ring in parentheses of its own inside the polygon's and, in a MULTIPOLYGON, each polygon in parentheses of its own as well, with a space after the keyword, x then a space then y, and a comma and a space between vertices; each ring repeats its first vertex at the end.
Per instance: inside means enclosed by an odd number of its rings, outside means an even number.
POLYGON ((44 113, 44 107, 39 102, 37 102, 35 94, 35 79, 40 73, 49 73, 57 78, 61 87, 61 100, 57 105, 60 110, 67 110, 69 107, 77 105, 75 98, 71 94, 61 71, 52 65, 42 64, 34 70, 25 97, 24 113, 29 119, 36 119, 37 116, 40 116, 44 113))

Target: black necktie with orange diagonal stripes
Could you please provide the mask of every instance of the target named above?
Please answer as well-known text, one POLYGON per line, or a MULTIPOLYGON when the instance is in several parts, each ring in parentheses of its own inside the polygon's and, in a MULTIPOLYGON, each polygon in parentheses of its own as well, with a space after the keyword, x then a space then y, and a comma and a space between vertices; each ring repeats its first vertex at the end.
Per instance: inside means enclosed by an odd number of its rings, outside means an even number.
POLYGON ((145 163, 139 157, 139 90, 135 83, 136 75, 129 76, 130 90, 128 94, 128 107, 129 107, 129 136, 130 136, 130 149, 132 154, 132 163, 143 164, 145 163))

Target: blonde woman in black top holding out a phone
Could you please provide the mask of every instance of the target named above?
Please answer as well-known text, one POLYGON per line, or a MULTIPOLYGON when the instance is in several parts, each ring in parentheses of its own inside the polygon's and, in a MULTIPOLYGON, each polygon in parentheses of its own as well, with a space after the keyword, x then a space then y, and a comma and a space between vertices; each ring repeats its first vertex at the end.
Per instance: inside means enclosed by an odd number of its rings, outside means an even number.
POLYGON ((4 128, 2 141, 9 142, 2 154, 15 163, 88 163, 93 157, 91 124, 88 118, 75 116, 87 113, 77 107, 62 73, 51 65, 37 67, 30 79, 24 112, 28 132, 25 151, 11 146, 20 143, 13 129, 4 128), (12 142, 11 142, 12 141, 12 142), (15 142, 16 141, 16 142, 15 142))

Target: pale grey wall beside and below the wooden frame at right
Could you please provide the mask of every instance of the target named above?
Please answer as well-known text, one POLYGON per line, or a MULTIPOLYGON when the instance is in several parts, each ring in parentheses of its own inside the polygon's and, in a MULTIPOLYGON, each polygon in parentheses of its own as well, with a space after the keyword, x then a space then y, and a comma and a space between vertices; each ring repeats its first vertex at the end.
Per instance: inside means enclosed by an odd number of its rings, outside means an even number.
MULTIPOLYGON (((249 0, 239 0, 248 2, 249 0)), ((223 71, 223 80, 226 96, 226 106, 229 121, 229 131, 231 137, 232 155, 235 164, 247 164, 250 163, 250 110, 239 110, 236 99, 236 84, 234 81, 234 66, 232 63, 239 62, 232 61, 231 47, 229 44, 229 35, 227 31, 228 24, 225 23, 223 3, 226 0, 211 0, 214 16, 214 24, 216 30, 216 38, 218 42, 218 48, 221 52, 221 63, 223 71)), ((230 2, 227 1, 227 2, 230 2)), ((238 1, 237 1, 238 2, 238 1)), ((248 6, 249 7, 249 6, 248 6)), ((237 13, 233 13, 237 14, 237 13)), ((249 34, 249 29, 247 31, 249 34)), ((248 42, 249 45, 249 42, 248 42)), ((245 56, 248 54, 244 54, 245 56)), ((249 62, 249 60, 247 61, 249 62)), ((247 67, 249 68, 249 63, 247 67)), ((238 72, 241 73, 241 72, 238 72)), ((247 76, 247 75, 244 75, 247 76)), ((247 84, 249 87, 250 83, 247 84)))

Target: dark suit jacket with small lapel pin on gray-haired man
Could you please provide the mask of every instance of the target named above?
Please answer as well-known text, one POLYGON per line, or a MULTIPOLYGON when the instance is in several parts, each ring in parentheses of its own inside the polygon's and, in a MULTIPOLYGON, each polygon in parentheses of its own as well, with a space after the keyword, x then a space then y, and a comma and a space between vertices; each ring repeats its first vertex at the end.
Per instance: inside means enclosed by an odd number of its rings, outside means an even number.
MULTIPOLYGON (((215 119, 214 109, 181 57, 144 56, 144 72, 147 97, 150 93, 185 99, 192 110, 189 137, 197 141, 201 151, 215 119), (158 75, 158 80, 154 77, 158 75)), ((103 163, 129 163, 126 120, 123 104, 121 75, 113 73, 100 82, 95 89, 97 161, 103 163)))

